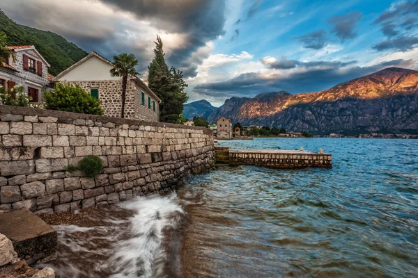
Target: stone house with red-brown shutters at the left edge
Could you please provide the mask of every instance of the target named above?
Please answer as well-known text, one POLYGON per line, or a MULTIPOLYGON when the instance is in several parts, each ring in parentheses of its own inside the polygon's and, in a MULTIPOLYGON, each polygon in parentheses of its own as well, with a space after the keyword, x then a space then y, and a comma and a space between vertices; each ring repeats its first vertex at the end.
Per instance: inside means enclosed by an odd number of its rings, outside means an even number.
POLYGON ((33 45, 6 47, 13 51, 13 56, 6 59, 0 67, 0 85, 6 90, 22 85, 24 92, 32 102, 42 101, 42 89, 49 88, 51 74, 48 74, 49 63, 40 55, 33 45))

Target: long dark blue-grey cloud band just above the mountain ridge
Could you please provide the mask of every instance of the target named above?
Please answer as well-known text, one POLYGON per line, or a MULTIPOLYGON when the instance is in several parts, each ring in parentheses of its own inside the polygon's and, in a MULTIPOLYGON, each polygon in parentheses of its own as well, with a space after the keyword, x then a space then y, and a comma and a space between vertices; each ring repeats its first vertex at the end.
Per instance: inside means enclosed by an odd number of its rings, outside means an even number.
MULTIPOLYGON (((300 62, 299 62, 300 63, 300 62)), ((385 67, 417 65, 417 60, 390 60, 364 67, 345 67, 349 63, 314 62, 318 66, 291 70, 247 72, 232 79, 196 85, 201 94, 225 98, 230 95, 251 97, 260 92, 286 90, 291 93, 314 92, 382 70, 385 67), (321 66, 325 65, 325 66, 321 66)))

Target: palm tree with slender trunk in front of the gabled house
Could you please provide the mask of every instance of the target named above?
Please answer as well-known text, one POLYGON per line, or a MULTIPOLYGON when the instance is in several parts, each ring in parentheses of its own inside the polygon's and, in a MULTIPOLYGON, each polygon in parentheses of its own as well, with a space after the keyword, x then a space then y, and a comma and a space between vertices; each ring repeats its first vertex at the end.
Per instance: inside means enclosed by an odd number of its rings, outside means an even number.
POLYGON ((114 56, 114 67, 110 70, 112 77, 122 77, 122 113, 121 117, 125 117, 125 102, 126 102, 126 85, 129 76, 137 76, 139 73, 135 70, 138 65, 138 60, 134 54, 120 54, 114 56))

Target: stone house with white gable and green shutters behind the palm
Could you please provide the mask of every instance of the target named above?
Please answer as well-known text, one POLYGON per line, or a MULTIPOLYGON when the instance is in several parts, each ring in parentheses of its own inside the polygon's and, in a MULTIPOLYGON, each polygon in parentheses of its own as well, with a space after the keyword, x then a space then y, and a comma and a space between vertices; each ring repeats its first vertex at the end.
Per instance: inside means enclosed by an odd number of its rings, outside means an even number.
MULTIPOLYGON (((105 116, 121 117, 122 78, 111 76, 112 67, 111 61, 91 51, 82 60, 58 74, 54 81, 79 85, 102 101, 105 116)), ((159 122, 160 101, 141 79, 130 76, 126 89, 125 118, 159 122)))

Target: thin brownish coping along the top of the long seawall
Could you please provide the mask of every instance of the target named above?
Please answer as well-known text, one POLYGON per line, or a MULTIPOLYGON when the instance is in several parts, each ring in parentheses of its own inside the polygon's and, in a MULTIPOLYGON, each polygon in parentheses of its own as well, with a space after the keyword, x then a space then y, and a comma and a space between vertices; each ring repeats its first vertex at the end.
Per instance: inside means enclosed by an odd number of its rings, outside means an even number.
POLYGON ((55 111, 55 110, 47 110, 47 109, 38 109, 38 108, 28 108, 28 107, 20 107, 20 106, 8 106, 8 105, 1 105, 0 104, 0 115, 24 115, 24 116, 40 116, 40 117, 56 117, 62 122, 68 119, 84 119, 84 120, 93 120, 102 123, 112 122, 114 124, 128 124, 128 125, 135 125, 135 126, 156 126, 156 127, 170 127, 173 129, 190 129, 190 130, 202 130, 203 134, 211 135, 212 131, 205 127, 201 126, 186 126, 184 124, 169 124, 167 122, 144 122, 138 120, 129 120, 129 119, 122 119, 120 117, 106 117, 106 116, 99 116, 99 115, 89 115, 89 114, 82 114, 82 113, 72 113, 72 112, 64 112, 64 111, 55 111))

